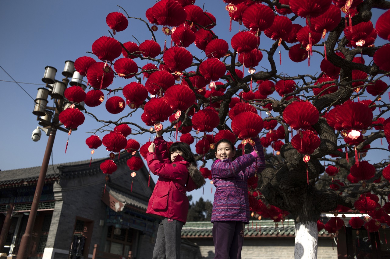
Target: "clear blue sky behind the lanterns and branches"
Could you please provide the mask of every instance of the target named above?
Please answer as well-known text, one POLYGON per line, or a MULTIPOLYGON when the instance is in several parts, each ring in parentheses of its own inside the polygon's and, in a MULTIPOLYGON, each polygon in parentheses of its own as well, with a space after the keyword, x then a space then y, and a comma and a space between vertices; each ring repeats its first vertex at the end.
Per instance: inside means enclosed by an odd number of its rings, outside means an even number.
MULTIPOLYGON (((214 31, 230 45, 231 37, 239 30, 238 23, 233 22, 232 32, 229 32, 229 16, 225 10, 223 1, 197 0, 195 4, 203 7, 204 2, 206 2, 204 10, 211 12, 216 17, 217 26, 214 31), (211 2, 213 3, 212 5, 210 4, 211 2)), ((44 67, 50 65, 57 68, 56 79, 61 80, 63 76, 60 72, 63 70, 66 60, 74 61, 78 57, 85 55, 95 58, 94 55, 85 52, 91 51, 92 43, 96 39, 104 35, 109 36, 109 28, 106 25, 105 18, 109 12, 123 12, 117 5, 122 6, 128 12, 129 16, 145 19, 146 9, 154 3, 154 0, 2 0, 2 8, 0 9, 0 24, 2 25, 0 66, 15 81, 21 82, 20 86, 35 99, 37 88, 44 87, 41 81, 44 74, 44 67)), ((374 17, 376 18, 373 19, 373 22, 383 12, 382 10, 374 12, 374 17)), ((303 24, 303 19, 299 18, 297 21, 303 24)), ((163 46, 165 35, 161 32, 161 27, 159 26, 156 37, 160 45, 163 46)), ((122 43, 136 41, 132 35, 140 42, 151 39, 151 33, 146 29, 146 26, 135 19, 129 19, 128 28, 123 32, 117 32, 115 38, 122 43)), ((169 45, 170 37, 167 38, 167 42, 169 45)), ((380 45, 383 42, 385 41, 378 37, 375 44, 380 45)), ((269 44, 271 43, 273 41, 261 35, 260 48, 269 48, 269 44)), ((229 49, 231 50, 231 48, 229 49)), ((195 48, 193 44, 189 50, 193 55, 204 58, 204 53, 200 53, 199 49, 195 48)), ((278 59, 278 56, 275 56, 275 58, 278 59)), ((97 58, 95 59, 97 60, 97 58)), ((288 58, 287 51, 282 49, 282 65, 278 65, 277 62, 277 66, 279 72, 288 73, 289 75, 298 73, 319 74, 319 62, 321 60, 322 58, 318 55, 314 56, 311 60, 311 66, 308 67, 307 61, 301 63, 291 62, 288 58)), ((139 59, 135 59, 135 61, 138 66, 142 67, 144 65, 144 63, 138 63, 139 59)), ((257 70, 261 70, 261 67, 269 67, 266 58, 262 60, 257 70)), ((190 68, 190 70, 192 69, 190 68)), ((247 74, 247 71, 245 71, 245 74, 247 74)), ((36 116, 32 114, 34 100, 16 83, 7 82, 12 81, 12 79, 1 69, 0 80, 0 89, 2 91, 0 95, 0 110, 2 111, 0 113, 0 121, 2 122, 0 127, 0 169, 8 170, 40 166, 46 148, 47 136, 43 134, 41 140, 38 142, 31 140, 32 131, 38 126, 36 116)), ((388 78, 386 80, 388 83, 388 78)), ((131 81, 133 79, 125 81, 124 79, 116 78, 114 79, 113 87, 123 87, 131 81)), ((142 83, 145 83, 145 81, 142 83)), ((119 96, 122 96, 121 93, 119 96)), ((388 101, 387 96, 384 99, 388 101)), ((88 111, 96 114, 99 118, 107 120, 122 116, 122 114, 111 115, 105 111, 104 104, 97 108, 88 108, 88 111)), ((137 112, 128 119, 131 122, 139 122, 140 125, 145 126, 140 120, 140 114, 141 112, 137 112)), ((53 163, 58 164, 89 159, 90 149, 85 144, 85 139, 92 135, 92 133, 86 132, 91 132, 101 126, 101 123, 96 122, 92 117, 86 115, 84 124, 69 137, 67 153, 64 151, 68 136, 65 132, 58 131, 53 146, 53 163)), ((105 133, 97 135, 102 138, 105 133)), ((134 136, 141 145, 148 141, 149 137, 150 134, 134 136)), ((379 140, 378 143, 376 144, 380 145, 379 140)), ((385 140, 383 147, 387 147, 385 140)), ((268 151, 271 152, 271 150, 268 151)), ((96 150, 94 158, 107 157, 108 153, 105 147, 101 146, 96 150)), ((380 156, 383 159, 388 157, 388 154, 383 151, 377 153, 381 154, 380 156)), ((378 161, 376 160, 376 162, 378 161)), ((154 180, 156 181, 155 177, 154 180)), ((204 195, 202 195, 202 190, 194 191, 190 194, 194 196, 195 200, 199 199, 200 196, 203 196, 204 199, 213 200, 211 184, 209 183, 206 184, 204 195)))

